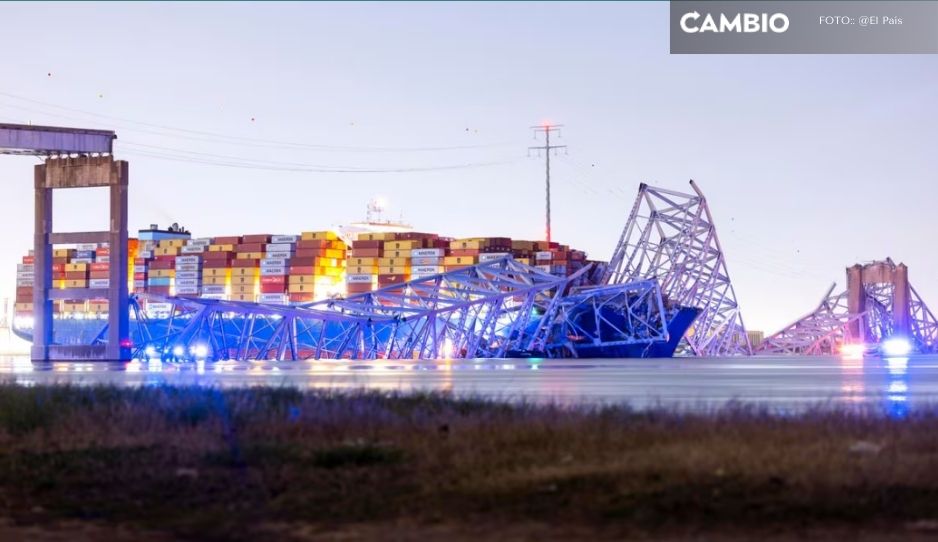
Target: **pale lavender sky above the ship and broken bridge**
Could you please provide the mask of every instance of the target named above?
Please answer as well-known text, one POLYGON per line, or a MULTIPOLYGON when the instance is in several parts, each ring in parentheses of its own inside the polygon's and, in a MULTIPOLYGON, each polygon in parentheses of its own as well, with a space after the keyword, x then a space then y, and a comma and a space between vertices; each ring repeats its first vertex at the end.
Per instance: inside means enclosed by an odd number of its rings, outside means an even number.
MULTIPOLYGON (((666 2, 4 2, 0 35, 0 122, 115 130, 132 232, 322 230, 383 196, 420 231, 537 239, 552 122, 553 237, 591 258, 640 182, 694 179, 748 328, 887 256, 938 309, 938 55, 670 55, 666 2)), ((3 297, 37 162, 0 156, 3 297)), ((106 225, 104 194, 56 198, 56 231, 106 225)))

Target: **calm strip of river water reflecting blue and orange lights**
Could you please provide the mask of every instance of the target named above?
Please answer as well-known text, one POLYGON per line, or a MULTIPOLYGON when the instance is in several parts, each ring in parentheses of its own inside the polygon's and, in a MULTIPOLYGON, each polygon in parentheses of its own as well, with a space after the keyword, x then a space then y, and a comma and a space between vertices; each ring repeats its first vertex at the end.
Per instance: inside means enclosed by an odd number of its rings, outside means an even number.
POLYGON ((0 380, 150 386, 296 386, 443 391, 500 400, 633 406, 752 402, 779 409, 818 403, 905 417, 938 403, 938 356, 676 358, 664 360, 310 360, 285 362, 32 363, 0 358, 0 380))

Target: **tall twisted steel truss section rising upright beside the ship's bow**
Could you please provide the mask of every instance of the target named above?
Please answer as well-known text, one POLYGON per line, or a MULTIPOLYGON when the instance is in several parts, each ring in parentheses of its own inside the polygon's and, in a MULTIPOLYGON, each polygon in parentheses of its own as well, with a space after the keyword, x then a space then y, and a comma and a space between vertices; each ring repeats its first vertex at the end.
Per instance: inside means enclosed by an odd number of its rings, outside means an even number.
POLYGON ((749 355, 752 347, 710 208, 696 183, 690 185, 694 194, 639 187, 602 282, 657 280, 668 302, 701 309, 694 333, 685 337, 694 354, 749 355))

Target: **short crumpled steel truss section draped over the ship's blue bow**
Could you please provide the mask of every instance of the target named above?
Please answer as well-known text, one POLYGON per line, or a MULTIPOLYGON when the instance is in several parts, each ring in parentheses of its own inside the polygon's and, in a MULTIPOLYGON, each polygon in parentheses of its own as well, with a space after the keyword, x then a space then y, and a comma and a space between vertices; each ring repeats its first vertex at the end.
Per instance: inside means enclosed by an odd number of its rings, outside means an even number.
POLYGON ((583 288, 551 315, 550 357, 577 356, 577 346, 667 342, 668 318, 657 281, 583 288))

